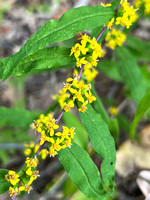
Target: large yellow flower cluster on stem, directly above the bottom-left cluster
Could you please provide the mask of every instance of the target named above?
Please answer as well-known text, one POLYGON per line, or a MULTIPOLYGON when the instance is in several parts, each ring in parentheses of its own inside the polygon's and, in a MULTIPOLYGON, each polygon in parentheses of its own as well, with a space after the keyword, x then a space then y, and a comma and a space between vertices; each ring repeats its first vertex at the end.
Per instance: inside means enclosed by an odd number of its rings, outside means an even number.
POLYGON ((41 133, 40 145, 43 145, 46 141, 49 142, 49 151, 44 150, 44 154, 55 156, 58 151, 66 147, 71 146, 71 140, 74 138, 74 128, 68 128, 63 126, 62 132, 56 132, 59 128, 56 124, 56 120, 52 117, 52 114, 41 115, 40 118, 34 122, 35 129, 41 133), (51 116, 51 117, 50 117, 51 116))

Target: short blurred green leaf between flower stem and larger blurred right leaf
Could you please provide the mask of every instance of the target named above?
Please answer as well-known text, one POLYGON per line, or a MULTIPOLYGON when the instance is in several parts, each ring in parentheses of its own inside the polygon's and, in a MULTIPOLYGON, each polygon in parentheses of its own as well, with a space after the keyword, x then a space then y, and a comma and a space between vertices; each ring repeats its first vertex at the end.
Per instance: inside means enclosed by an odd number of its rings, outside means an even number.
POLYGON ((118 63, 112 60, 105 60, 98 63, 97 68, 99 69, 100 72, 103 72, 109 78, 122 82, 122 77, 119 73, 117 65, 118 63))

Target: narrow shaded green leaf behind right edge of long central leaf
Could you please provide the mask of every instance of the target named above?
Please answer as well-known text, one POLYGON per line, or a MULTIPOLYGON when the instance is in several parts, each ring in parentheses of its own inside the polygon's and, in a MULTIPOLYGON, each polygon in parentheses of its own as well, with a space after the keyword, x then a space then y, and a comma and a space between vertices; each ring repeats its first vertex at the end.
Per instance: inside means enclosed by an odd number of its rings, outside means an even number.
POLYGON ((108 124, 109 123, 109 117, 107 115, 107 112, 103 106, 103 103, 101 101, 101 99, 99 98, 96 90, 94 89, 94 87, 92 87, 91 89, 93 95, 96 97, 96 101, 93 102, 93 106, 95 108, 95 110, 100 113, 102 119, 108 124))

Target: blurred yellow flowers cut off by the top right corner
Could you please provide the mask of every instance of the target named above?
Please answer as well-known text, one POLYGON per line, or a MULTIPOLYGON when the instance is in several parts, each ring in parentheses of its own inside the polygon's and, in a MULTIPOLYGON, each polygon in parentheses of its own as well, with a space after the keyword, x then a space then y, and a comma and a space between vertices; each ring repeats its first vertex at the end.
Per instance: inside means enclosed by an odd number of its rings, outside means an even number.
POLYGON ((136 0, 134 2, 136 8, 144 7, 144 15, 150 14, 150 0, 136 0))

